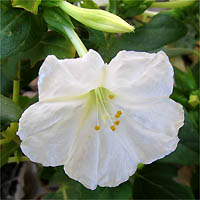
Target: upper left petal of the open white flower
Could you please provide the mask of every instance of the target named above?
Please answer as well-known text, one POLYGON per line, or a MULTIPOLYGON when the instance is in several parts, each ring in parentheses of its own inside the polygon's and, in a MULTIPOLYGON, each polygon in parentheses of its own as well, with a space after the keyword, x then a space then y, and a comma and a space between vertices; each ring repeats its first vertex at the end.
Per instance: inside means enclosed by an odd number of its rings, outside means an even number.
POLYGON ((94 50, 82 58, 59 60, 48 56, 39 72, 40 101, 80 96, 99 84, 104 61, 94 50))

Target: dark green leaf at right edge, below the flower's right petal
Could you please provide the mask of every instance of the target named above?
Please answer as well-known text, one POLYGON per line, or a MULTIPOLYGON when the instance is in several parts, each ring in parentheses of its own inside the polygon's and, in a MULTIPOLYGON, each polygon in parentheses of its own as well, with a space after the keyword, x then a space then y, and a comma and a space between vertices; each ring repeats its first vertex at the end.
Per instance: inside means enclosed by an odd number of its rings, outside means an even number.
POLYGON ((185 111, 184 126, 179 131, 177 149, 159 162, 183 165, 199 164, 199 135, 187 111, 185 111))

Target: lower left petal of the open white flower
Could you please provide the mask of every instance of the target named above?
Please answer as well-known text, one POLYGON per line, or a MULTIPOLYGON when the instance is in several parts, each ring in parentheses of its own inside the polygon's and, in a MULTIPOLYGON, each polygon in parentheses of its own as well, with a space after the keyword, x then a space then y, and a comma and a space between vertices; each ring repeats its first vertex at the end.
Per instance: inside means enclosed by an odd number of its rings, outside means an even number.
POLYGON ((36 103, 19 122, 21 149, 44 166, 63 165, 81 122, 84 102, 36 103))

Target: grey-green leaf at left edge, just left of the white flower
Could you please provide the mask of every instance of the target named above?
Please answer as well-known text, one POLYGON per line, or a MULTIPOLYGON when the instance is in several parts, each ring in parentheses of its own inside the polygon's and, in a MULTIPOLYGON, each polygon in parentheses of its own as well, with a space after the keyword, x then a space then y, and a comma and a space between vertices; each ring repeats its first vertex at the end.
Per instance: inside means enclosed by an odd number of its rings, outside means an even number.
POLYGON ((11 99, 0 95, 0 121, 1 129, 5 130, 11 122, 17 122, 22 114, 22 109, 11 99))

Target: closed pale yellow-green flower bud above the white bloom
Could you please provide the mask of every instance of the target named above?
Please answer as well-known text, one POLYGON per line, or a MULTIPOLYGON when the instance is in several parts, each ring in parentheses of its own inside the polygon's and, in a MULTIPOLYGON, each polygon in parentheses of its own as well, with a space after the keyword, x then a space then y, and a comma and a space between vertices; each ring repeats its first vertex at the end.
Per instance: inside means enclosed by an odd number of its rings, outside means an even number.
POLYGON ((134 30, 123 19, 104 10, 80 8, 65 1, 59 2, 58 6, 77 21, 99 31, 126 33, 134 30))

